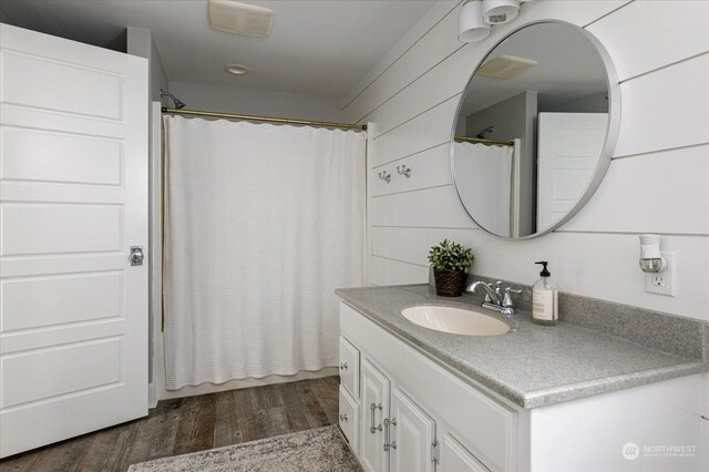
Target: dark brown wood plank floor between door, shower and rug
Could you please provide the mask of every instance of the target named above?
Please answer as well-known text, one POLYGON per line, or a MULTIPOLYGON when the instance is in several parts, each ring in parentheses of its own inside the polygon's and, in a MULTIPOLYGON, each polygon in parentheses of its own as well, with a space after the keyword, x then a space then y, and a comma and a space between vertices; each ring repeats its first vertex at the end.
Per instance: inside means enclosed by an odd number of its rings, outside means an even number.
POLYGON ((0 461, 6 471, 126 471, 136 462, 335 424, 338 377, 163 400, 140 420, 0 461))

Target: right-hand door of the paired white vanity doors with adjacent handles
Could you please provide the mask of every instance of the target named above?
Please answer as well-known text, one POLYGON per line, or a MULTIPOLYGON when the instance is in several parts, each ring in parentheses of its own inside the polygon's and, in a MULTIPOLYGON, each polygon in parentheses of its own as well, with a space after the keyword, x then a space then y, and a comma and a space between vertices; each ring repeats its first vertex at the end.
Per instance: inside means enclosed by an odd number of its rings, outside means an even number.
POLYGON ((392 472, 434 471, 435 422, 399 389, 392 392, 390 429, 392 472))

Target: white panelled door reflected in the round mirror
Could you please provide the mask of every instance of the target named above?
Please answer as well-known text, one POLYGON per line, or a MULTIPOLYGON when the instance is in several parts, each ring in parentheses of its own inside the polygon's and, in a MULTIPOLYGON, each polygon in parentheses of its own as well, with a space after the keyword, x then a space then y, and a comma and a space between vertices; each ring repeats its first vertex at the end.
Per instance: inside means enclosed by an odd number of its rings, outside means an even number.
POLYGON ((537 117, 537 214, 544 229, 578 202, 606 142, 607 113, 540 113, 537 117))

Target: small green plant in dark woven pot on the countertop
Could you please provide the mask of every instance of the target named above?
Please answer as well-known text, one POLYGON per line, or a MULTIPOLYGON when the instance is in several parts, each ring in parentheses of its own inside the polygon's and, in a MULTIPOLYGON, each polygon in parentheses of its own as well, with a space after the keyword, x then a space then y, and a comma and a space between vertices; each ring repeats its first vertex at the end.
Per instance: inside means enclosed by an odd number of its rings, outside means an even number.
POLYGON ((435 294, 441 297, 460 297, 465 284, 465 269, 473 264, 473 249, 443 239, 429 252, 433 267, 435 294))

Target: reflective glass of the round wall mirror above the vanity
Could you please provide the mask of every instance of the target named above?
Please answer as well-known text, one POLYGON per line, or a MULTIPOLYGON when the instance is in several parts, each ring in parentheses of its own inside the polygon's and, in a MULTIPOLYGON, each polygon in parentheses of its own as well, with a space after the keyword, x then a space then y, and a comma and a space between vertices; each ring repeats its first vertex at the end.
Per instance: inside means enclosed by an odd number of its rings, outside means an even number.
POLYGON ((540 22, 480 63, 453 124, 455 189, 482 229, 531 238, 567 222, 603 179, 619 123, 618 81, 583 29, 540 22))

